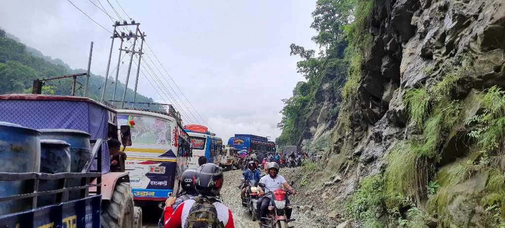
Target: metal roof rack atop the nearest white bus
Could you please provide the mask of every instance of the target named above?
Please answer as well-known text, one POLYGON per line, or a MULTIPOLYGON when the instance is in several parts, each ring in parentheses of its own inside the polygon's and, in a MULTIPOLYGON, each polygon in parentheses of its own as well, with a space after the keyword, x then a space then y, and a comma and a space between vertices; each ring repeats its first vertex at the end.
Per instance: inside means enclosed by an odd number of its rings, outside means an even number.
MULTIPOLYGON (((104 100, 102 103, 104 105, 109 106, 113 109, 128 109, 128 110, 138 110, 138 111, 144 111, 144 112, 154 112, 162 115, 167 115, 173 117, 179 125, 182 126, 182 119, 181 119, 181 114, 175 110, 174 106, 171 104, 163 104, 163 103, 149 103, 149 102, 128 102, 128 101, 115 101, 115 100, 104 100), (125 103, 125 104, 130 104, 132 107, 116 107, 113 105, 115 102, 119 103, 125 103), (147 108, 135 108, 135 105, 143 105, 144 107, 147 106, 147 108), (155 109, 153 109, 154 106, 155 109), (163 111, 163 109, 165 111, 163 111)), ((122 106, 122 105, 121 105, 122 106)))

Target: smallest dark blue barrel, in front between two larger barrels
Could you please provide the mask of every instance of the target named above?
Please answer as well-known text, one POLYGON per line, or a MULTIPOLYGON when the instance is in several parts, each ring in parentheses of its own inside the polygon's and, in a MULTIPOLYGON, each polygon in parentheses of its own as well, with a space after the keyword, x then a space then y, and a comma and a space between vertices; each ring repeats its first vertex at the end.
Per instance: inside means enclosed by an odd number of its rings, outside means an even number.
MULTIPOLYGON (((70 144, 61 140, 40 140, 40 172, 61 173, 70 172, 70 144)), ((39 192, 57 190, 58 181, 39 180, 39 192)), ((39 196, 37 206, 47 206, 56 203, 56 195, 39 196)))

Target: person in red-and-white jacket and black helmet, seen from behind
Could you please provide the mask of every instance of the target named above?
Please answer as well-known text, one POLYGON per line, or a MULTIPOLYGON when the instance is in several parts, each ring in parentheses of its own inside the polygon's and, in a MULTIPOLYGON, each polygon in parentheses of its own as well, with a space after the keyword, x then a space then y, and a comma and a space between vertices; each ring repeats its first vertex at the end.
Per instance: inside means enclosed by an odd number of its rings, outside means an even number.
POLYGON ((234 228, 231 210, 216 199, 223 186, 223 170, 214 163, 203 164, 196 170, 195 183, 199 195, 184 201, 175 211, 172 205, 175 204, 176 198, 167 199, 164 227, 200 225, 197 227, 234 228), (209 219, 209 216, 214 216, 214 219, 209 219))

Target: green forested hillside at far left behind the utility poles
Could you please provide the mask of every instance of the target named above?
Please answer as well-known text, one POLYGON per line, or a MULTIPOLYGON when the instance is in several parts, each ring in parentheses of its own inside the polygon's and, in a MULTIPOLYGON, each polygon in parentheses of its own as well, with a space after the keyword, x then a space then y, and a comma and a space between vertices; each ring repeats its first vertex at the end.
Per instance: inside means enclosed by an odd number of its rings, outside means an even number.
MULTIPOLYGON (((13 35, 0 29, 0 94, 31 93, 33 80, 52 76, 84 73, 85 69, 70 69, 59 59, 44 56, 36 49, 26 47, 17 41, 13 35), (10 37, 10 38, 8 38, 10 37)), ((112 68, 112 67, 111 67, 112 68)), ((85 76, 78 77, 76 96, 84 95, 85 76)), ((102 96, 104 77, 91 73, 88 97, 99 100, 102 96)), ((110 79, 110 78, 109 78, 110 79)), ((113 83, 109 80, 109 83, 113 83)), ((121 98, 124 92, 124 84, 118 82, 116 100, 121 98)), ((44 84, 42 94, 70 95, 72 79, 49 80, 44 84)), ((112 99, 114 84, 109 84, 106 91, 106 99, 112 99)), ((126 101, 133 100, 133 90, 128 88, 126 101)), ((153 99, 138 95, 137 102, 154 102, 153 99)))

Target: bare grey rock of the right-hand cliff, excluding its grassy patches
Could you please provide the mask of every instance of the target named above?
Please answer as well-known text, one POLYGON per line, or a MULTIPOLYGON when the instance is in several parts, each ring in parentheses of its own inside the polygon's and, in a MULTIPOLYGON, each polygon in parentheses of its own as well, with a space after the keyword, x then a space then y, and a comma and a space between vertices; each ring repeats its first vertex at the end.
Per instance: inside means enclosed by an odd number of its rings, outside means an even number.
MULTIPOLYGON (((483 89, 505 85, 503 0, 374 1, 370 25, 372 48, 362 64, 358 101, 353 104, 351 143, 343 143, 349 136, 338 131, 335 116, 324 116, 339 101, 329 96, 322 96, 324 99, 313 109, 307 121, 310 130, 301 142, 314 141, 333 127, 329 130, 332 136, 324 169, 338 173, 340 183, 347 183, 336 190, 342 199, 356 190, 359 185, 355 183, 364 176, 384 171, 385 156, 394 145, 419 134, 409 124, 402 96, 410 88, 430 90, 445 77, 444 63, 463 55, 475 59, 473 70, 464 72, 458 79, 458 91, 454 95, 465 101, 465 116, 470 117, 479 110, 480 104, 472 98, 483 89)), ((318 93, 325 93, 324 83, 318 93)), ((441 148, 442 161, 436 170, 469 156, 468 151, 455 150, 463 143, 461 138, 461 132, 455 128, 441 148)), ((464 191, 447 205, 454 212, 448 219, 458 227, 488 225, 482 218, 486 212, 475 197, 482 191, 478 188, 486 185, 487 176, 475 178, 450 190, 454 194, 464 191), (470 189, 466 190, 467 187, 470 189)), ((328 181, 327 185, 333 183, 336 181, 328 181)), ((439 227, 444 226, 439 224, 439 227)))

